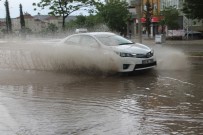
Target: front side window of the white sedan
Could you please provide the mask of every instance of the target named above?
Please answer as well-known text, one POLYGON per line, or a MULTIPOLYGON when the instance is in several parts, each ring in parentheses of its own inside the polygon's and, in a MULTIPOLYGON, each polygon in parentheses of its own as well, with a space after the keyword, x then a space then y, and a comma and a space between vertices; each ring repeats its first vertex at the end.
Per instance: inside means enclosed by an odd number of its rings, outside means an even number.
POLYGON ((81 45, 87 46, 87 47, 98 47, 98 42, 91 36, 84 35, 81 36, 81 45))

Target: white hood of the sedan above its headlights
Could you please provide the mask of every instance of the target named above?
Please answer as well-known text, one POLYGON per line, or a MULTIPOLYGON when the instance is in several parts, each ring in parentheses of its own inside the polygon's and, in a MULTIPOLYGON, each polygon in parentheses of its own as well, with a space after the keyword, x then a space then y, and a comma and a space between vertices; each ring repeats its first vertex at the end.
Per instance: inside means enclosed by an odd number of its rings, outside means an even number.
POLYGON ((143 44, 128 44, 128 45, 119 45, 119 46, 112 46, 112 49, 116 52, 123 52, 123 53, 136 53, 136 54, 146 54, 151 49, 143 44))

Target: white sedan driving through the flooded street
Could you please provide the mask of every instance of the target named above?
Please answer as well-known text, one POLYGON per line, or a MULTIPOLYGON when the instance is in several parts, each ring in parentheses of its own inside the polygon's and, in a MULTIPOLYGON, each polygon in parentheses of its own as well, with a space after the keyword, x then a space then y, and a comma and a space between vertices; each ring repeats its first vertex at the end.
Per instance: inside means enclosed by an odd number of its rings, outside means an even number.
MULTIPOLYGON (((119 58, 118 72, 150 69, 157 65, 153 49, 110 32, 73 34, 60 44, 111 51, 119 58)), ((103 55, 106 57, 105 53, 103 55)))

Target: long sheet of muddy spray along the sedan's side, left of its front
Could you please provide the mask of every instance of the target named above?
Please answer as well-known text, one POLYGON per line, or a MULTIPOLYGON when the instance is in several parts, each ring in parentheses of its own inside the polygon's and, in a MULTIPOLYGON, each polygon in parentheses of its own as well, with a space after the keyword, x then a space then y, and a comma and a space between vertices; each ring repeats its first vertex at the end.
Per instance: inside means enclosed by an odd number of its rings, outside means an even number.
POLYGON ((56 42, 7 42, 0 46, 0 68, 76 72, 117 72, 119 56, 110 50, 57 46, 56 42))

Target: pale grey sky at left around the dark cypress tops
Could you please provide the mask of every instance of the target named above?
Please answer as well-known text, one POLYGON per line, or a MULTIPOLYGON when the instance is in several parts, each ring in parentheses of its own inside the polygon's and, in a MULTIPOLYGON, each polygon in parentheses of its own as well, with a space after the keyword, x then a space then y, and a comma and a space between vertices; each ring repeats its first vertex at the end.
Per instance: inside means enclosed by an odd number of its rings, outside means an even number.
MULTIPOLYGON (((22 4, 24 13, 28 12, 31 15, 37 15, 38 12, 42 15, 48 14, 48 10, 39 9, 37 11, 34 11, 34 7, 32 6, 32 3, 34 2, 38 3, 39 1, 40 0, 8 0, 11 18, 16 18, 20 15, 20 9, 19 9, 20 4, 22 4)), ((5 0, 0 1, 0 18, 5 18, 6 16, 4 3, 5 3, 5 0)))

